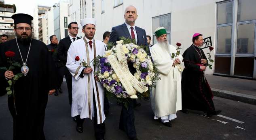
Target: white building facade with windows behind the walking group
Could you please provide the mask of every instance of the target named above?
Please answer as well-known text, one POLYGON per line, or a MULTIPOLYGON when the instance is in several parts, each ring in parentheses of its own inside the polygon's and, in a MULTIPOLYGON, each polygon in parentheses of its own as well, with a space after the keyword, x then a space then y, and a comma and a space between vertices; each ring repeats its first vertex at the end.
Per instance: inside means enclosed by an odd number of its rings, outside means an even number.
MULTIPOLYGON (((192 44, 193 33, 211 37, 213 70, 205 73, 256 78, 256 0, 70 0, 72 21, 97 21, 95 38, 125 22, 124 10, 137 8, 135 25, 146 30, 155 44, 154 30, 165 27, 170 44, 192 44)), ((83 36, 80 31, 79 36, 83 36)), ((203 49, 205 54, 209 49, 203 49)))

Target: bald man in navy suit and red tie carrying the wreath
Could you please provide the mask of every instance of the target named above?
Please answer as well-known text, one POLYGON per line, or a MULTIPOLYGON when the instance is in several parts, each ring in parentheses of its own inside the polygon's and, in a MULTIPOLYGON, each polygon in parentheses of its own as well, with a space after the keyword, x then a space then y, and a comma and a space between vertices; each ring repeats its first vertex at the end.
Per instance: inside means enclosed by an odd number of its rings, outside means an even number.
MULTIPOLYGON (((135 26, 135 21, 137 17, 137 10, 134 6, 128 6, 127 8, 125 8, 125 23, 116 27, 112 27, 109 42, 115 44, 116 41, 120 40, 120 37, 123 36, 125 38, 135 39, 136 44, 138 45, 148 46, 146 31, 140 27, 135 26)), ((132 63, 128 63, 128 67, 131 74, 134 74, 136 72, 136 70, 133 68, 132 63)), ((126 109, 124 105, 122 105, 119 129, 125 131, 130 140, 138 140, 134 125, 135 118, 133 113, 133 107, 138 107, 140 106, 140 104, 138 104, 135 99, 131 100, 133 100, 133 102, 129 103, 128 109, 126 109)))

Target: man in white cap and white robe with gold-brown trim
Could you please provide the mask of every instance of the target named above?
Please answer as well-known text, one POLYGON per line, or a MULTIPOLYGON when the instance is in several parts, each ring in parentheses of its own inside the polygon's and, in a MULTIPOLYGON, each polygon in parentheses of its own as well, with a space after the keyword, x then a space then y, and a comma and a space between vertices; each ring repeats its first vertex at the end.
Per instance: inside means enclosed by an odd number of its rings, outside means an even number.
POLYGON ((97 78, 94 77, 92 60, 96 56, 103 56, 104 43, 95 40, 96 21, 86 18, 81 21, 82 31, 85 36, 72 42, 68 49, 66 67, 72 74, 72 107, 71 115, 76 116, 76 131, 83 132, 85 118, 93 119, 96 140, 104 140, 105 115, 104 115, 104 89, 97 78), (80 65, 84 62, 86 65, 80 65))

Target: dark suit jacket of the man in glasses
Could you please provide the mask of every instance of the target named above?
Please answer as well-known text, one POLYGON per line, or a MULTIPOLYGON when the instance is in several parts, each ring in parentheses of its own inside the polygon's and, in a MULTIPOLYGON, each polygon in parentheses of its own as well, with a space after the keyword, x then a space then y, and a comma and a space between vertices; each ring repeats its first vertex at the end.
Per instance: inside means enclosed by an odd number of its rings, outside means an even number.
MULTIPOLYGON (((77 37, 77 39, 80 39, 80 38, 77 37)), ((59 46, 57 49, 57 57, 64 65, 66 65, 67 63, 68 49, 71 43, 72 41, 70 40, 69 35, 66 38, 63 38, 59 41, 59 46)))

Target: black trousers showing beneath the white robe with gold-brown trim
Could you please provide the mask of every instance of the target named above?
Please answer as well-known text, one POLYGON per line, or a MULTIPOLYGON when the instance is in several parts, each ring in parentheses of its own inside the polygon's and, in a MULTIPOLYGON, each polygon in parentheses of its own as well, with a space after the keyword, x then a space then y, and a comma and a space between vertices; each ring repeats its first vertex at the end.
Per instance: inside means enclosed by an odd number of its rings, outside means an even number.
MULTIPOLYGON (((93 118, 93 128, 94 128, 94 135, 96 140, 104 138, 104 135, 106 133, 106 127, 105 127, 105 122, 97 124, 98 119, 97 119, 97 107, 96 107, 96 102, 95 102, 95 96, 93 92, 93 107, 94 107, 94 118, 93 118)), ((80 123, 83 125, 83 122, 85 119, 80 119, 80 115, 76 116, 77 123, 80 123)))

